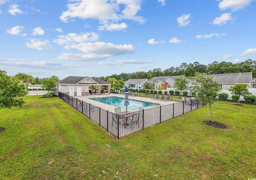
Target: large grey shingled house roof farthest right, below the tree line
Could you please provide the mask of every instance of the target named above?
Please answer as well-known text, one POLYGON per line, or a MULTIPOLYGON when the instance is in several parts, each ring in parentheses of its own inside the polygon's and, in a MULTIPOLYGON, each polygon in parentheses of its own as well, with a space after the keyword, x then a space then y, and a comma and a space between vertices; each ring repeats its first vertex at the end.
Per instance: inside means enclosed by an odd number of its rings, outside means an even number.
POLYGON ((246 73, 228 73, 228 74, 211 74, 213 81, 218 83, 252 83, 252 72, 246 73))

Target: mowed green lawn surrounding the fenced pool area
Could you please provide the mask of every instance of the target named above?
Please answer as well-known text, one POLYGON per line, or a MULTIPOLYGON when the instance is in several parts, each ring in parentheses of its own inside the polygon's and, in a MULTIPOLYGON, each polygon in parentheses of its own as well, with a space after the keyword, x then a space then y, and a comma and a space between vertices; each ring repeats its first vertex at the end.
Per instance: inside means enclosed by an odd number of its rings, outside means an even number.
POLYGON ((256 106, 217 102, 117 140, 58 98, 0 109, 0 179, 256 178, 256 106))

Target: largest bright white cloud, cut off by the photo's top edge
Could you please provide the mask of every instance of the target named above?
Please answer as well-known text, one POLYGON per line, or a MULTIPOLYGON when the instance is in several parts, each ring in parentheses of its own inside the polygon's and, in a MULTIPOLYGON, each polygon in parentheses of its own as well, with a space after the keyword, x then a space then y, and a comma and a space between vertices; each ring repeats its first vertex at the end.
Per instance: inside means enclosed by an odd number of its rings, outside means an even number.
POLYGON ((141 0, 70 0, 70 4, 67 5, 68 10, 62 12, 60 20, 68 22, 72 18, 83 20, 92 18, 99 20, 100 24, 117 24, 120 20, 133 20, 143 24, 144 18, 136 16, 141 4, 141 0))

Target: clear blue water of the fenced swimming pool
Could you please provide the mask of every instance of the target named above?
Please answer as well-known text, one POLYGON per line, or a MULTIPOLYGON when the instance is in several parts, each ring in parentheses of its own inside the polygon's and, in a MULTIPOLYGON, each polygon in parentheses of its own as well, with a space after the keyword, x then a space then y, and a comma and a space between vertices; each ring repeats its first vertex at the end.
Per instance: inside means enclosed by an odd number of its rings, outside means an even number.
MULTIPOLYGON (((120 107, 122 109, 126 109, 126 106, 124 105, 124 98, 122 97, 100 97, 100 98, 91 98, 94 101, 98 101, 101 103, 105 103, 111 106, 120 107)), ((134 110, 139 109, 140 107, 149 107, 154 106, 154 103, 148 103, 145 101, 137 101, 133 99, 128 99, 129 105, 127 107, 127 110, 134 110)))

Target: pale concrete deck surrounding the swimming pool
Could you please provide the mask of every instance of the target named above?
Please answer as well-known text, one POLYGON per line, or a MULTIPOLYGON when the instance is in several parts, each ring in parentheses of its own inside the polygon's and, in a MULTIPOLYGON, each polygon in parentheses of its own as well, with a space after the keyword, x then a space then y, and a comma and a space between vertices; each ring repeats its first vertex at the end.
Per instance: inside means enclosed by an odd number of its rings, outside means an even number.
MULTIPOLYGON (((102 94, 102 95, 89 95, 89 96, 74 96, 77 99, 80 99, 86 103, 90 103, 91 105, 100 107, 106 111, 115 113, 115 108, 114 106, 111 105, 107 105, 104 103, 100 103, 98 101, 94 101, 90 98, 99 98, 99 97, 111 97, 111 96, 115 96, 115 97, 122 97, 124 98, 124 95, 122 94, 116 94, 116 93, 110 93, 110 95, 108 94, 102 94)), ((177 101, 162 101, 160 99, 156 100, 156 99, 151 99, 151 98, 147 98, 147 97, 138 97, 138 96, 129 96, 129 99, 134 99, 134 100, 138 100, 138 101, 145 101, 145 102, 149 102, 149 103, 159 103, 159 105, 169 105, 169 104, 174 104, 174 103, 179 103, 177 101)), ((156 106, 159 106, 156 105, 156 106)), ((154 106, 150 106, 150 107, 145 107, 144 109, 148 109, 148 108, 152 108, 154 106)), ((122 109, 122 111, 125 111, 125 109, 122 109)), ((129 111, 138 111, 138 109, 134 109, 134 110, 129 110, 129 111)))

